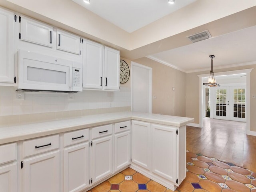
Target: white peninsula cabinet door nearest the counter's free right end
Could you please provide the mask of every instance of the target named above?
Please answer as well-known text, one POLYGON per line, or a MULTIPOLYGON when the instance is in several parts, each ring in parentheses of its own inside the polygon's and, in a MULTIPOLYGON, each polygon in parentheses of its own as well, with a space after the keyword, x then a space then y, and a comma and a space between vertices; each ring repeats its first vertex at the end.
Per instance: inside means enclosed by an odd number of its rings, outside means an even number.
POLYGON ((152 124, 152 172, 176 183, 176 128, 152 124))

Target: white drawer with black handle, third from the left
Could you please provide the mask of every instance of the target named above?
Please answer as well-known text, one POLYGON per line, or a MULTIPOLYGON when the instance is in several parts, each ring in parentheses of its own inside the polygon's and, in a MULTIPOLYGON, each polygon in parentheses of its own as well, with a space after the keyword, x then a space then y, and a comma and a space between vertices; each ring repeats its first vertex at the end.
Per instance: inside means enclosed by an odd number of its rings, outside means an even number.
POLYGON ((89 129, 83 129, 78 131, 73 131, 69 133, 64 133, 64 147, 88 141, 89 140, 89 129))

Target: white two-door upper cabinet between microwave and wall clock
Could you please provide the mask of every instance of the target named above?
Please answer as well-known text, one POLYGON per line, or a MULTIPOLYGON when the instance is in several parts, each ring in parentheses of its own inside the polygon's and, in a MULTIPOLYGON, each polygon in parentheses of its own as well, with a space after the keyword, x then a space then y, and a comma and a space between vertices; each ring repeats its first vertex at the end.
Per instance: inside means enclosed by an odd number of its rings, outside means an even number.
POLYGON ((83 52, 83 88, 119 90, 120 52, 89 40, 83 52))

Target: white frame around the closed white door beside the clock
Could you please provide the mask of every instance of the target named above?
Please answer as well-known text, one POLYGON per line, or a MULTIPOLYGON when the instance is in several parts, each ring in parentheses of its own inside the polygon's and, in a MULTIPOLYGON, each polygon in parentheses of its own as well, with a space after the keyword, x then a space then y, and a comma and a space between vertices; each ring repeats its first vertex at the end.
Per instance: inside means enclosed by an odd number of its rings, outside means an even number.
POLYGON ((133 82, 132 82, 132 74, 133 74, 132 70, 133 70, 133 66, 147 69, 148 72, 149 72, 148 111, 149 111, 149 113, 152 113, 152 68, 148 67, 148 66, 145 66, 145 65, 142 65, 142 64, 138 64, 138 63, 133 62, 133 61, 131 62, 131 111, 132 111, 132 92, 133 92, 133 89, 132 89, 132 84, 133 84, 133 82))

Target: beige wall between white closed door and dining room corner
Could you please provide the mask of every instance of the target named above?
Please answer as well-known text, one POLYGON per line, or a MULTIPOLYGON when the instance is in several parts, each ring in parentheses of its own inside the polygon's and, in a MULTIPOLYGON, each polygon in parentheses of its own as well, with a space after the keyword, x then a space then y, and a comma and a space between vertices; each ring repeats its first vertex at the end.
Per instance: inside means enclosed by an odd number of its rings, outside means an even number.
POLYGON ((145 57, 134 62, 152 68, 152 112, 186 116, 186 74, 145 57))

